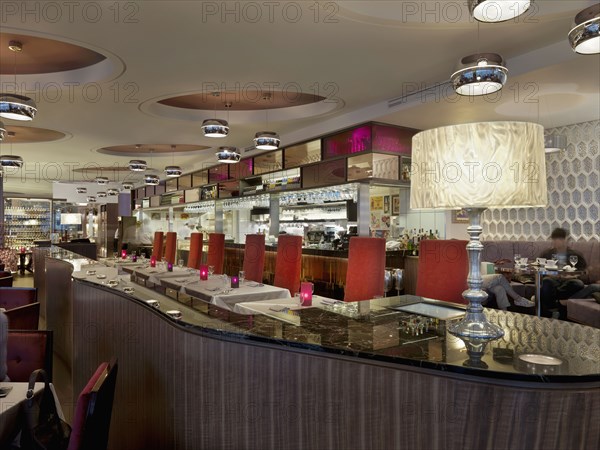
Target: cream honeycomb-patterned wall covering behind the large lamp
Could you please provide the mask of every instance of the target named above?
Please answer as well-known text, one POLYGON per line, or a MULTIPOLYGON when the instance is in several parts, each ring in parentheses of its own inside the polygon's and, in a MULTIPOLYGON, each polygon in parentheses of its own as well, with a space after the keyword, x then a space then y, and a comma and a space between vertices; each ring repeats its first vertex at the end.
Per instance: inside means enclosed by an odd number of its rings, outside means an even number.
POLYGON ((600 121, 553 128, 567 136, 567 149, 546 155, 548 206, 487 210, 483 238, 544 240, 555 227, 571 231, 575 241, 600 239, 600 121))

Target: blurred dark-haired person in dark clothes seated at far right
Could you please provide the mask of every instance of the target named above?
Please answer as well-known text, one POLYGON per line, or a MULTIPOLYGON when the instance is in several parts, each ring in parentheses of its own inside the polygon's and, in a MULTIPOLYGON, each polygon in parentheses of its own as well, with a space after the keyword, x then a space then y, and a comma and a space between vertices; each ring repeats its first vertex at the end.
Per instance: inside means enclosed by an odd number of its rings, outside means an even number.
MULTIPOLYGON (((540 258, 558 259, 559 266, 568 264, 571 255, 577 256, 577 270, 585 270, 587 262, 583 255, 567 246, 567 230, 556 228, 550 236, 552 239, 552 248, 542 252, 540 258)), ((583 289, 585 284, 575 276, 546 276, 542 280, 540 292, 540 302, 542 306, 542 316, 552 317, 552 309, 558 308, 559 318, 566 318, 566 309, 560 304, 559 300, 571 297, 583 289)))

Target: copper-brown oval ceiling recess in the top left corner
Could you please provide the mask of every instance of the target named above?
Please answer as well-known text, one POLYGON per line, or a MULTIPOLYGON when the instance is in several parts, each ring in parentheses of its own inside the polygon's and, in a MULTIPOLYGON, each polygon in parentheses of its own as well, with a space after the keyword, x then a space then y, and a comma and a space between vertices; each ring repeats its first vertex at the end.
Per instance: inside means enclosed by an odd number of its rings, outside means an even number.
POLYGON ((106 57, 79 45, 15 33, 0 33, 0 74, 32 75, 76 70, 97 64, 106 57), (19 41, 23 50, 8 50, 10 41, 19 41))

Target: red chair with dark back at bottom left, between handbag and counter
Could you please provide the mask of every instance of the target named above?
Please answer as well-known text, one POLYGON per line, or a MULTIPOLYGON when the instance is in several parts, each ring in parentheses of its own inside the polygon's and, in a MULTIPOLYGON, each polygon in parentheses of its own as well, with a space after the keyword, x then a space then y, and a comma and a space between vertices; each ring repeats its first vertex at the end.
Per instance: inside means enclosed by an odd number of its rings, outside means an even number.
POLYGON ((106 450, 118 363, 102 363, 85 385, 75 406, 68 450, 106 450))

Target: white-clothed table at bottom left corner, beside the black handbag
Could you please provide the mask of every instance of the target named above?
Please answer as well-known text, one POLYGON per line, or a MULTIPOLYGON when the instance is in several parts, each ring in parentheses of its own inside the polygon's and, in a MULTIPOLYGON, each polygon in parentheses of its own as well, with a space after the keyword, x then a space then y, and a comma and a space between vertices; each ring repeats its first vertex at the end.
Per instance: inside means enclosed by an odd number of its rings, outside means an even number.
MULTIPOLYGON (((0 397, 0 448, 9 448, 10 443, 21 430, 21 408, 27 400, 29 383, 0 382, 0 388, 12 388, 6 397, 0 397)), ((44 383, 35 383, 34 395, 40 394, 44 383)), ((57 405, 59 408, 59 405, 57 405)), ((59 411, 62 414, 62 410, 59 411)))

